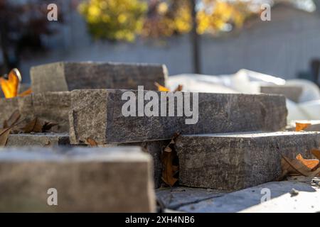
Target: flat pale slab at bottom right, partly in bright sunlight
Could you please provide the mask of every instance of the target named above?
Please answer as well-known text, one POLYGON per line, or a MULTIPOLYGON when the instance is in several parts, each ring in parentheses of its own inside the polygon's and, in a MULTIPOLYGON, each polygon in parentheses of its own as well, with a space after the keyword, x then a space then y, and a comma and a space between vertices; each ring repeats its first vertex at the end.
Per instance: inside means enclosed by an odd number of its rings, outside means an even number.
POLYGON ((269 182, 213 199, 180 206, 177 210, 190 213, 315 213, 320 211, 320 188, 297 181, 269 182), (292 196, 292 189, 298 194, 292 196), (268 200, 269 195, 270 200, 268 200))

